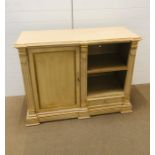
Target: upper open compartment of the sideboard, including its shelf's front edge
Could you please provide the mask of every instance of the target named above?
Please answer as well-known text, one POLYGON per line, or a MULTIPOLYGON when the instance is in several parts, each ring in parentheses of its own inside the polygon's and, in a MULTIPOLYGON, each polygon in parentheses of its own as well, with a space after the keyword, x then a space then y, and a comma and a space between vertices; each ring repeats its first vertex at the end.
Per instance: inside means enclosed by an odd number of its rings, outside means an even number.
POLYGON ((130 43, 90 45, 88 74, 127 70, 130 43))

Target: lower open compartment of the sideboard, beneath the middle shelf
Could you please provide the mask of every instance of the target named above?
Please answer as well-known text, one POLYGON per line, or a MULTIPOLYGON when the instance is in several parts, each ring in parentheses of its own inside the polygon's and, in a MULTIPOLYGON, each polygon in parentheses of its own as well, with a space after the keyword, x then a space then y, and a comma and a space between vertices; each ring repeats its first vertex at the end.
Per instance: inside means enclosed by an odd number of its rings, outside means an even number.
POLYGON ((123 94, 125 77, 126 71, 94 74, 88 77, 88 98, 123 94))

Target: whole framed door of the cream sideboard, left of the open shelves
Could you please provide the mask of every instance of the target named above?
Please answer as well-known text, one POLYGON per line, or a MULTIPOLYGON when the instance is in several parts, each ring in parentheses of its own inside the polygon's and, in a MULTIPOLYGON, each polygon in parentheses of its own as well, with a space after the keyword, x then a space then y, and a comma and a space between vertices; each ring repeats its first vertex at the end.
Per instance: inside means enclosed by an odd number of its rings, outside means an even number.
POLYGON ((36 110, 79 106, 79 48, 29 49, 36 110))

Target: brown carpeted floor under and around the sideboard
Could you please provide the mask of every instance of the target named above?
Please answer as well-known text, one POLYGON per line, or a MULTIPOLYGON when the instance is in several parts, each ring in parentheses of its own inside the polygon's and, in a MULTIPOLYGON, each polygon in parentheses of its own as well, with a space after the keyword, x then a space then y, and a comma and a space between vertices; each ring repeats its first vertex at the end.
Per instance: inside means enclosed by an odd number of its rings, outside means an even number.
POLYGON ((25 127, 23 96, 6 98, 6 155, 149 155, 149 85, 132 87, 133 113, 25 127))

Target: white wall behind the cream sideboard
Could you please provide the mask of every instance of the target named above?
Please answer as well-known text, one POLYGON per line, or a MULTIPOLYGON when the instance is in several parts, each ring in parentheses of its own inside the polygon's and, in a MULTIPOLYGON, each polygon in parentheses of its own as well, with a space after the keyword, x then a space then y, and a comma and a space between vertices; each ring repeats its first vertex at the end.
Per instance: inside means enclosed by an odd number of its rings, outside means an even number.
MULTIPOLYGON (((74 0, 74 28, 126 26, 142 36, 133 84, 148 83, 149 1, 74 0)), ((70 0, 6 0, 6 96, 24 94, 17 50, 18 35, 25 30, 71 28, 70 0)))

